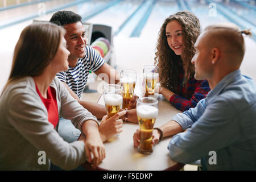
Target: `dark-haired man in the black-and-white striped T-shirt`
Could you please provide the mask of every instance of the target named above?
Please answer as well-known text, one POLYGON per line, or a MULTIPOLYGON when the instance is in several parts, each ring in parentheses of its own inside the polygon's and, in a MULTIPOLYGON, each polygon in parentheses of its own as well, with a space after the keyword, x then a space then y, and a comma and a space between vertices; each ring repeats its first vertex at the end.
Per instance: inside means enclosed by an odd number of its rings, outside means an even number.
MULTIPOLYGON (((57 11, 57 13, 52 15, 50 22, 65 28, 67 49, 70 52, 68 57, 68 71, 57 73, 57 77, 63 82, 73 98, 98 119, 101 119, 106 115, 105 106, 80 100, 89 71, 96 73, 96 75, 104 73, 109 78, 107 82, 111 82, 112 84, 119 82, 119 73, 110 67, 109 64, 105 63, 105 60, 96 50, 90 46, 86 46, 85 30, 80 15, 72 11, 57 11)), ((113 120, 113 118, 109 118, 107 121, 110 120, 113 120)), ((122 121, 119 119, 118 122, 102 122, 100 133, 103 142, 115 134, 121 133, 121 127, 122 121)), ((77 130, 70 120, 63 118, 60 118, 58 131, 60 136, 67 142, 73 142, 81 135, 80 130, 77 130)))

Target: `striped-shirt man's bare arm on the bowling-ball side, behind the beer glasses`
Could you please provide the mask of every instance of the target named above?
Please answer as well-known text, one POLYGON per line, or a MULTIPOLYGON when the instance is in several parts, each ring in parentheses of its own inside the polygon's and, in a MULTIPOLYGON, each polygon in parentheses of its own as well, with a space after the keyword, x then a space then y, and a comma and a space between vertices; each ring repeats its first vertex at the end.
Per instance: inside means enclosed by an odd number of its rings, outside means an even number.
POLYGON ((117 84, 120 80, 119 73, 108 63, 104 63, 101 68, 95 71, 96 75, 109 84, 117 84))

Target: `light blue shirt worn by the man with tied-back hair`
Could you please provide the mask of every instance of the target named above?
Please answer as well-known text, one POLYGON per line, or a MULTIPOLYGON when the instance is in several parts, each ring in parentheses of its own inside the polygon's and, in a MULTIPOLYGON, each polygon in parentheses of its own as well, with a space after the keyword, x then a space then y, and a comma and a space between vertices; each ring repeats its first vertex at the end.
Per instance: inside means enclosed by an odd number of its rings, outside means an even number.
POLYGON ((168 149, 173 160, 201 159, 203 169, 256 169, 256 85, 240 70, 226 75, 195 108, 176 114, 184 133, 168 149))

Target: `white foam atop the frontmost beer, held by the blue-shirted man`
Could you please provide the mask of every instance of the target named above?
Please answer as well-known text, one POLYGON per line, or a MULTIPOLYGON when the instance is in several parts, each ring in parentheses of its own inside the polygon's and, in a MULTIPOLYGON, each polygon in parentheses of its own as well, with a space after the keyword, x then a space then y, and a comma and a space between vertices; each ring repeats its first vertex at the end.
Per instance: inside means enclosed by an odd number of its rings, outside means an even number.
POLYGON ((143 119, 152 119, 158 116, 158 109, 151 105, 142 104, 137 107, 137 115, 143 119))

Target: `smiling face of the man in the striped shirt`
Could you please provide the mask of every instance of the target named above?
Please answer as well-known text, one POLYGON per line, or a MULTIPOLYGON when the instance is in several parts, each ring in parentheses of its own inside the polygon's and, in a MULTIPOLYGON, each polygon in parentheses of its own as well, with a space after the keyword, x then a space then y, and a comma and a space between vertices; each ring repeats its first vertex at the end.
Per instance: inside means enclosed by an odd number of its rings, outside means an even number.
POLYGON ((70 23, 64 26, 67 31, 65 39, 67 40, 68 51, 71 53, 68 59, 78 60, 85 56, 86 36, 84 26, 81 22, 70 23))

